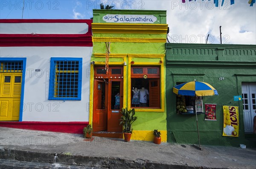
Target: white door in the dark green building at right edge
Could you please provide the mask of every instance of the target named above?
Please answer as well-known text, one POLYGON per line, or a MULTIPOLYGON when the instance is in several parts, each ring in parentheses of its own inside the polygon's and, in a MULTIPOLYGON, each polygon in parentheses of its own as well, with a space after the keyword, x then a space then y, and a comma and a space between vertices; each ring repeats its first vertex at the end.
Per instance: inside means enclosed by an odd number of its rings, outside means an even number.
POLYGON ((253 132, 253 117, 256 115, 256 83, 242 83, 244 132, 253 132))

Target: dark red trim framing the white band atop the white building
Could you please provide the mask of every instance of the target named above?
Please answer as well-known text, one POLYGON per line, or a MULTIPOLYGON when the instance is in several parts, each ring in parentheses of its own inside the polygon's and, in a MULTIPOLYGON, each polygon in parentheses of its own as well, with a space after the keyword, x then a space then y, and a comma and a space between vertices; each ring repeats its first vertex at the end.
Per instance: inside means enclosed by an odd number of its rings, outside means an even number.
POLYGON ((0 23, 87 23, 86 34, 0 34, 0 46, 93 46, 93 20, 0 19, 0 23))

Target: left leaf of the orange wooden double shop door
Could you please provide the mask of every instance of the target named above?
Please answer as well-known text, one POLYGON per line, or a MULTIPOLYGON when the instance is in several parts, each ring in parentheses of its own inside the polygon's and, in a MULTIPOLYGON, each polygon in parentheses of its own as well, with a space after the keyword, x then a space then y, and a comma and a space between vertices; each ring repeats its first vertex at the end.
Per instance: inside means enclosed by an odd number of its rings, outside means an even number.
POLYGON ((93 90, 93 132, 107 130, 108 84, 94 79, 93 90))

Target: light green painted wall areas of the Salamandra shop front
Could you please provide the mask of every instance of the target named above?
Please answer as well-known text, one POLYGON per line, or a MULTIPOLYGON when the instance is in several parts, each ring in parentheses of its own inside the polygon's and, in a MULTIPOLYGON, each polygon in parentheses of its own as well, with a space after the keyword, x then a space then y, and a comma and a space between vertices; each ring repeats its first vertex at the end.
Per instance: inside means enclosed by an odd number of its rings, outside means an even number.
MULTIPOLYGON (((154 15, 161 24, 166 24, 166 11, 147 11, 147 10, 93 10, 93 23, 105 23, 102 17, 106 14, 142 14, 154 15)), ((119 23, 122 25, 122 23, 119 23)), ((167 30, 166 30, 167 31, 167 30)), ((93 54, 105 54, 105 42, 111 39, 111 54, 165 54, 165 42, 141 42, 140 39, 151 38, 152 40, 161 38, 166 39, 166 34, 106 34, 106 33, 93 33, 93 38, 102 42, 93 42, 93 54), (122 38, 122 42, 118 42, 115 38, 122 38), (154 38, 154 39, 153 39, 154 38), (107 40, 108 39, 108 40, 107 40), (134 40, 127 42, 127 39, 134 40)), ((105 57, 99 58, 92 56, 92 61, 105 62, 105 57)), ((109 59, 110 62, 121 62, 122 58, 109 59)), ((134 62, 154 62, 158 63, 160 58, 137 58, 132 59, 134 62)), ((127 65, 128 57, 124 60, 127 65)), ((110 64, 111 65, 111 64, 110 64)), ((126 67, 128 68, 128 66, 126 67)), ((124 71, 124 76, 128 77, 128 72, 124 71)), ((165 76, 165 72, 164 72, 165 76)), ((126 78, 128 84, 128 78, 126 78)), ((162 89, 164 92, 165 89, 162 89)), ((131 92, 131 89, 126 89, 126 93, 131 92)), ((128 103, 128 99, 124 98, 124 103, 128 103)), ((166 107, 166 104, 165 104, 166 107)), ((135 109, 137 120, 133 123, 134 130, 166 130, 166 109, 164 112, 141 112, 140 109, 135 109)))

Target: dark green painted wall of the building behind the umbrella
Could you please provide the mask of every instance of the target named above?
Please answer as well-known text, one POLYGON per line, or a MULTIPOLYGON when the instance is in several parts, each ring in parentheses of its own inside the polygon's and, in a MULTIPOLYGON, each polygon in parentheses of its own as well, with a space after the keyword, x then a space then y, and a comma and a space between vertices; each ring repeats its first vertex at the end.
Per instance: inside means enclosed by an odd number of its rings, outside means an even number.
POLYGON ((217 104, 217 121, 204 121, 204 114, 198 115, 201 144, 256 146, 255 140, 247 140, 244 135, 242 101, 233 101, 233 96, 242 95, 242 82, 256 82, 256 45, 167 44, 166 61, 168 142, 198 144, 196 117, 176 113, 176 95, 173 93, 176 82, 196 79, 211 84, 219 94, 203 97, 204 104, 217 104), (214 52, 192 54, 196 50, 214 52), (219 80, 219 77, 224 77, 224 80, 219 80), (238 138, 222 136, 223 105, 239 106, 238 138))

